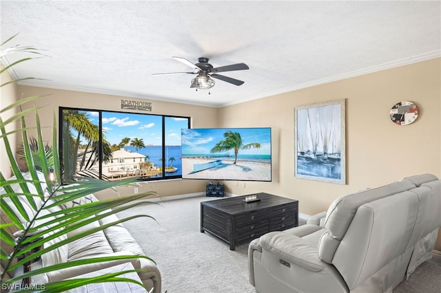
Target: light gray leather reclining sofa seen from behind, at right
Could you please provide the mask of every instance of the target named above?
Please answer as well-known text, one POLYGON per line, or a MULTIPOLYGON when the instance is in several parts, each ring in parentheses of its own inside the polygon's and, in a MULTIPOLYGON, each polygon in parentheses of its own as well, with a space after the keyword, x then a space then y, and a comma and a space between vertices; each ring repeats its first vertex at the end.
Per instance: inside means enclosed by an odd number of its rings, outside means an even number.
POLYGON ((431 258, 441 180, 430 174, 340 197, 327 213, 249 245, 257 292, 391 292, 431 258))

